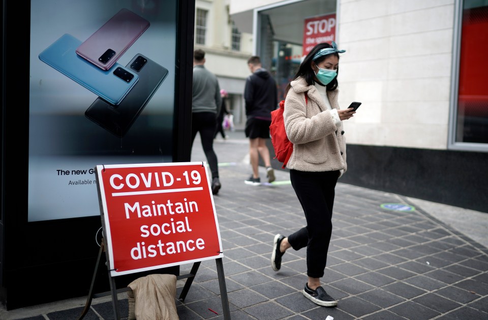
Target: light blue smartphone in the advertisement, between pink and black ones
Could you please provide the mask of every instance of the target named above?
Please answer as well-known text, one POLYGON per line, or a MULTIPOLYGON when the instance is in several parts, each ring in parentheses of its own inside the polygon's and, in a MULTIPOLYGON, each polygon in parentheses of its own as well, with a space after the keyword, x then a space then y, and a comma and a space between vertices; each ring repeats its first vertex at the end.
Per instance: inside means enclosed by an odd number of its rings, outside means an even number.
POLYGON ((39 59, 102 99, 117 105, 139 80, 130 69, 115 63, 103 70, 76 54, 81 41, 64 34, 39 54, 39 59))

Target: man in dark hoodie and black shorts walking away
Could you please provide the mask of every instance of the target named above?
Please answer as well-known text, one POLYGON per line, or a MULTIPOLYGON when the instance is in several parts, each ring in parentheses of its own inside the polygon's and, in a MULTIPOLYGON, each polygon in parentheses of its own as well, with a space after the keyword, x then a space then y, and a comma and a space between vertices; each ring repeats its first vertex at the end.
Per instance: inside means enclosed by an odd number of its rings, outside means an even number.
POLYGON ((258 171, 259 156, 266 166, 268 182, 275 181, 266 139, 270 138, 271 111, 278 107, 278 89, 275 79, 262 67, 258 56, 249 58, 248 66, 252 75, 246 79, 244 88, 247 116, 245 132, 246 137, 249 138, 249 155, 253 173, 245 183, 258 186, 261 184, 258 171))

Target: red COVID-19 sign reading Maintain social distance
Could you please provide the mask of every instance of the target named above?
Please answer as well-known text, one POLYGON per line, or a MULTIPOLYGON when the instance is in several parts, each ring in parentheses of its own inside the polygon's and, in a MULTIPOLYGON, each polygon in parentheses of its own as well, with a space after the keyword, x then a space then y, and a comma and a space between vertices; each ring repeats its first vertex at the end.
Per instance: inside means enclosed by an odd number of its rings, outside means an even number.
POLYGON ((223 256, 205 162, 96 170, 112 276, 223 256))

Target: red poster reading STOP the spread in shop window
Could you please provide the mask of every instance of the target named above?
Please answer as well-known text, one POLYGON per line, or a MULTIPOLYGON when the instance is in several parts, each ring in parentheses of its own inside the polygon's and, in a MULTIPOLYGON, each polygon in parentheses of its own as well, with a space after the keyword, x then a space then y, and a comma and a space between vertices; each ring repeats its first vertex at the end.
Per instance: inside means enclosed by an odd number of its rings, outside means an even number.
POLYGON ((302 56, 319 43, 335 41, 335 13, 305 19, 302 56))

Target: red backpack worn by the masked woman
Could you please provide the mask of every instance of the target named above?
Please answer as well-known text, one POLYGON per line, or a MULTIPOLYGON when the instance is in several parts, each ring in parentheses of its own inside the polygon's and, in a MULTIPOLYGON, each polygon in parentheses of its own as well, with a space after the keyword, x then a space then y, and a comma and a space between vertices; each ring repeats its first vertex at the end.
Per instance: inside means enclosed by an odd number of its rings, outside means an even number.
MULTIPOLYGON (((305 103, 308 96, 305 92, 305 103)), ((275 149, 275 158, 283 162, 282 168, 286 167, 288 160, 293 153, 293 144, 288 140, 285 131, 285 121, 283 120, 283 111, 285 111, 285 100, 280 101, 280 108, 271 111, 271 124, 269 125, 269 134, 271 135, 271 144, 275 149)))

